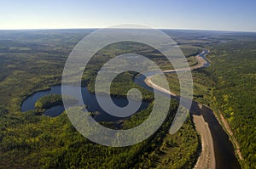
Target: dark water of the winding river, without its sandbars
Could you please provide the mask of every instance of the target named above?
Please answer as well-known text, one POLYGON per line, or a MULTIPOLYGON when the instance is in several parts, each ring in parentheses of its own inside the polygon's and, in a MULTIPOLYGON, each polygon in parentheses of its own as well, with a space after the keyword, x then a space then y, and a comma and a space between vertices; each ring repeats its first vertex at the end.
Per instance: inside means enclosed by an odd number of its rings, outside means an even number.
MULTIPOLYGON (((204 54, 199 54, 199 56, 201 56, 203 59, 206 59, 205 58, 206 54, 208 54, 207 50, 205 50, 204 54)), ((207 67, 209 65, 210 63, 207 61, 207 64, 203 65, 203 67, 207 67)), ((151 75, 152 73, 149 72, 148 76, 151 76, 151 75)), ((145 78, 146 77, 143 75, 137 76, 137 78, 135 79, 135 82, 141 87, 144 87, 148 90, 153 90, 152 87, 148 87, 148 85, 144 82, 145 78)), ((166 93, 163 93, 163 94, 166 95, 166 93)), ((179 96, 172 97, 172 99, 178 100, 179 96)), ((208 126, 212 134, 216 168, 217 169, 240 169, 241 166, 236 159, 235 149, 233 147, 233 144, 230 142, 230 139, 227 133, 224 132, 224 129, 219 124, 217 118, 213 114, 213 111, 206 106, 203 106, 203 110, 200 110, 198 104, 199 103, 195 101, 192 102, 190 113, 193 113, 196 115, 195 112, 202 112, 204 120, 208 123, 208 126)))

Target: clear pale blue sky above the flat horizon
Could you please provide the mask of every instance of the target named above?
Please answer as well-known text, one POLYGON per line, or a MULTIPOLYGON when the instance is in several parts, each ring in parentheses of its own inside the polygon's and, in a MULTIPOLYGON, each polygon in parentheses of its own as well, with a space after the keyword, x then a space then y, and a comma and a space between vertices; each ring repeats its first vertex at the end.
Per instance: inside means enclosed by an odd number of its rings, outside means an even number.
POLYGON ((153 28, 256 31, 256 0, 1 0, 0 30, 153 28))

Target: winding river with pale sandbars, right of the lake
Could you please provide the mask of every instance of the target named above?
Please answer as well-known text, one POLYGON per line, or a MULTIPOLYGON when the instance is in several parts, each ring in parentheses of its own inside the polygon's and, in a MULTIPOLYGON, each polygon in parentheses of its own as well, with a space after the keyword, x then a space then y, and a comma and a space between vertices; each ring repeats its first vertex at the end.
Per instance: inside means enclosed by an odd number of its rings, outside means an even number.
MULTIPOLYGON (((206 59, 207 50, 195 56, 198 63, 191 66, 191 70, 207 67, 210 63, 206 59)), ((175 73, 176 70, 165 70, 164 73, 175 73)), ((156 89, 159 92, 166 94, 166 89, 159 87, 150 78, 155 73, 149 72, 148 76, 138 76, 135 82, 149 90, 156 89)), ((179 96, 175 93, 168 92, 172 99, 179 100, 179 96)), ((197 132, 201 134, 202 152, 197 161, 195 168, 217 168, 217 169, 240 169, 241 166, 236 159, 235 149, 230 142, 229 136, 224 132, 224 129, 219 124, 213 111, 206 105, 193 101, 190 114, 195 124, 197 132), (209 132, 208 132, 209 131, 209 132), (211 148, 212 142, 212 148, 211 148), (206 152, 205 152, 206 151, 206 152), (213 152, 212 152, 213 151, 213 152)))

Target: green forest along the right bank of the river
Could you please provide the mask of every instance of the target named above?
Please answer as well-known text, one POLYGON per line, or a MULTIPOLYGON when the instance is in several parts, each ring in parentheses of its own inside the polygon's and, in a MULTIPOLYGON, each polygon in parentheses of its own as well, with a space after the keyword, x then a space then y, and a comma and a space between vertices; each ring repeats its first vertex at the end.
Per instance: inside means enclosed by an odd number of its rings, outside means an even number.
POLYGON ((236 41, 215 45, 207 71, 215 82, 215 106, 229 122, 241 147, 243 168, 256 164, 256 37, 241 36, 236 41))

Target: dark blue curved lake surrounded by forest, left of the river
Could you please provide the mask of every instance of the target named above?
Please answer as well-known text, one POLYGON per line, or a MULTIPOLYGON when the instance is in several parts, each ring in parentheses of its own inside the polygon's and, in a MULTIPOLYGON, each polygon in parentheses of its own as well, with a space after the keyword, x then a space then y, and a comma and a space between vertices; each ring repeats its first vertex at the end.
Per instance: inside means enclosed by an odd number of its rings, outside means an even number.
MULTIPOLYGON (((74 91, 78 89, 78 87, 75 86, 64 86, 68 95, 75 97, 74 91)), ((119 121, 123 120, 125 118, 122 117, 116 117, 113 115, 109 115, 106 111, 102 110, 100 105, 98 104, 96 100, 96 95, 89 93, 87 90, 87 87, 81 87, 81 93, 83 96, 84 103, 79 103, 79 105, 87 105, 87 110, 90 112, 99 112, 99 115, 96 115, 94 118, 96 121, 119 121)), ((37 93, 33 93, 31 96, 29 96, 21 105, 21 111, 26 112, 28 110, 35 110, 35 103, 38 101, 38 99, 42 98, 43 96, 49 95, 49 94, 61 94, 61 85, 59 86, 53 86, 50 87, 49 90, 40 91, 37 93)), ((108 99, 106 96, 101 95, 99 96, 104 99, 108 99)), ((128 100, 126 98, 119 98, 119 97, 112 97, 113 103, 118 105, 119 107, 125 107, 125 105, 128 104, 128 100)), ((136 102, 136 101, 131 101, 136 102)), ((140 108, 137 110, 137 112, 144 110, 148 107, 148 102, 142 102, 140 108)), ((64 111, 63 105, 57 105, 54 107, 51 107, 44 111, 44 115, 49 115, 51 117, 55 117, 58 115, 61 115, 61 113, 64 111)))

